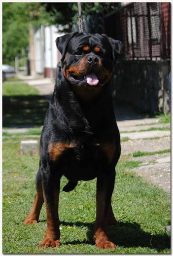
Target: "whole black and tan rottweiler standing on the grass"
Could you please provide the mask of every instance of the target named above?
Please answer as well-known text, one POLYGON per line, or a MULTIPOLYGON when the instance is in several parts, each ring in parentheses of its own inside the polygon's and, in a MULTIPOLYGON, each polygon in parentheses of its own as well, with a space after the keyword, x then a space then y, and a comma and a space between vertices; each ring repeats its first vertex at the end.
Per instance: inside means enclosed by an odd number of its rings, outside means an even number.
POLYGON ((120 135, 109 81, 122 43, 106 35, 76 32, 58 37, 56 44, 62 60, 41 134, 35 201, 24 223, 37 222, 45 202, 47 231, 39 246, 59 247, 61 177, 69 180, 64 191, 72 190, 77 181, 97 178, 95 244, 115 249, 106 227, 116 223, 111 196, 120 135))

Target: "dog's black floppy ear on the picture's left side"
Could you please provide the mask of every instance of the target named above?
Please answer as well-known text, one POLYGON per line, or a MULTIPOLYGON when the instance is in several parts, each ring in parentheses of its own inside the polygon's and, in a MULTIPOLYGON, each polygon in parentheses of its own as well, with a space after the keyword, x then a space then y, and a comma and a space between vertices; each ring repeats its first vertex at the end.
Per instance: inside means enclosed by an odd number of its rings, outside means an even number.
POLYGON ((61 60, 63 60, 64 57, 65 57, 66 49, 67 49, 69 40, 77 34, 78 34, 78 32, 72 32, 72 33, 66 34, 62 37, 57 37, 57 39, 55 40, 57 48, 58 48, 58 50, 60 51, 60 53, 62 55, 61 60))

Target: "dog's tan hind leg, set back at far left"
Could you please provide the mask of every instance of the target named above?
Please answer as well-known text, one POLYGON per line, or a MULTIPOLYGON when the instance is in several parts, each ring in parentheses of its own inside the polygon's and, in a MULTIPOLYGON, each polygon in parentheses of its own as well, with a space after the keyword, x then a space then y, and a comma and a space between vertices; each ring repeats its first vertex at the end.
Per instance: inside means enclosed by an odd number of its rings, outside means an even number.
POLYGON ((38 222, 41 207, 44 203, 40 169, 38 170, 36 175, 35 185, 36 185, 35 201, 29 215, 24 220, 24 224, 32 224, 32 223, 38 222))

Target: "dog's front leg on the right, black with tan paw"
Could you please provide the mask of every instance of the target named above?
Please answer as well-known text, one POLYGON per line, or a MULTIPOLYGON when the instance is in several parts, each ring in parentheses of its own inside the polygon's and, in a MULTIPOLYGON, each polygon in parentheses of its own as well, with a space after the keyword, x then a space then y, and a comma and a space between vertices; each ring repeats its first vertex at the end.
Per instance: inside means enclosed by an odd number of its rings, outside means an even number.
POLYGON ((112 170, 110 174, 100 175, 97 178, 96 231, 94 234, 94 239, 96 246, 101 249, 116 249, 116 246, 108 239, 106 233, 107 217, 114 188, 114 181, 114 170, 112 170))

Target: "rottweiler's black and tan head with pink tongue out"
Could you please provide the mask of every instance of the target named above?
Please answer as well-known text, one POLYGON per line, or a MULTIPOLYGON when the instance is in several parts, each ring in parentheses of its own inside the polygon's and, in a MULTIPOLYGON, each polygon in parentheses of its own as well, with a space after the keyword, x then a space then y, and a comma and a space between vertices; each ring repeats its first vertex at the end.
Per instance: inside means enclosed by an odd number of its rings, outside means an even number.
POLYGON ((106 35, 69 33, 56 39, 63 74, 70 84, 99 87, 111 77, 122 42, 106 35))

